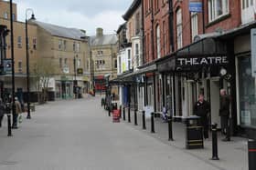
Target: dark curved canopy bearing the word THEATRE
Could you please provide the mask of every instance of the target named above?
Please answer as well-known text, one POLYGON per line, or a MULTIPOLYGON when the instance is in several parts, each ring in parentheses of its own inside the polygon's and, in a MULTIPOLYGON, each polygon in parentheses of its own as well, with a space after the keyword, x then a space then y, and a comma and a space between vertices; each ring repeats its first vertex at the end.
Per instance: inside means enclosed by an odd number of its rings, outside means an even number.
POLYGON ((227 45, 217 37, 204 37, 157 63, 158 72, 193 72, 202 67, 228 65, 227 45))

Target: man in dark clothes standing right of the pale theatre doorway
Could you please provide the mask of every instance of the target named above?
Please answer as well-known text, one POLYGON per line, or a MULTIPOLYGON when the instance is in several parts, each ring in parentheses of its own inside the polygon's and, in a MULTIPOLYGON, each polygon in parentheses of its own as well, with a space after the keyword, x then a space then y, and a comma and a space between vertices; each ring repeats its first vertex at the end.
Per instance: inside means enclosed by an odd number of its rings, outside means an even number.
POLYGON ((229 132, 229 105, 230 99, 227 95, 225 89, 220 90, 220 107, 219 107, 219 116, 221 120, 221 131, 226 137, 222 140, 224 142, 230 141, 230 132, 229 132))

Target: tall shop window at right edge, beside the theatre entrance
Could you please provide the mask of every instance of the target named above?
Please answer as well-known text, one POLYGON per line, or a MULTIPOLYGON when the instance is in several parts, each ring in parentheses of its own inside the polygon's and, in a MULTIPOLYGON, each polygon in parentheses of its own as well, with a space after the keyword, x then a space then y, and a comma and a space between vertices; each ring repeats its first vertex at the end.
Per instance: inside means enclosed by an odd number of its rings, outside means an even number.
POLYGON ((239 57, 240 125, 256 127, 256 78, 251 75, 251 57, 239 57))

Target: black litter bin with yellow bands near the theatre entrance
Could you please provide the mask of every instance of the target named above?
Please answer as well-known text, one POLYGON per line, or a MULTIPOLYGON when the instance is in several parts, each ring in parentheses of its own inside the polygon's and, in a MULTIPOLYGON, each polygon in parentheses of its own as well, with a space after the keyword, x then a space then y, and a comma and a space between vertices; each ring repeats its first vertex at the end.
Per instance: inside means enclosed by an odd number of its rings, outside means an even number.
POLYGON ((199 125, 199 119, 197 115, 192 115, 183 120, 186 124, 187 149, 204 148, 203 127, 199 125))

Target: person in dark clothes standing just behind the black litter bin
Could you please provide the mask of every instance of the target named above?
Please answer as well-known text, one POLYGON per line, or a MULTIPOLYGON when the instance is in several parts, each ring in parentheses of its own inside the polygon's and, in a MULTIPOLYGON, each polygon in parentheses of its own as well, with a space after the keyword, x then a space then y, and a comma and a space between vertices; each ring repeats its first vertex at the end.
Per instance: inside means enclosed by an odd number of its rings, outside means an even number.
POLYGON ((208 139, 208 121, 209 121, 210 105, 205 100, 205 96, 200 94, 198 101, 194 105, 194 114, 199 116, 199 125, 203 126, 204 138, 208 139))

